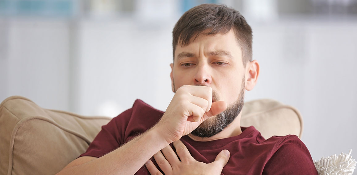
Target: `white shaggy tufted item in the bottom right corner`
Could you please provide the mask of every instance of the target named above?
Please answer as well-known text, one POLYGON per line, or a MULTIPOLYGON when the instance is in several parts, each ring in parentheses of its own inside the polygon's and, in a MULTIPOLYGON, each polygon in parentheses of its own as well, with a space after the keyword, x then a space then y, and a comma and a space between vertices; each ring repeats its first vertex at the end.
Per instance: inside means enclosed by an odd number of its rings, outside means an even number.
POLYGON ((356 169, 356 161, 351 156, 352 149, 348 154, 343 152, 336 156, 322 157, 320 160, 315 160, 314 164, 319 175, 352 175, 356 169))

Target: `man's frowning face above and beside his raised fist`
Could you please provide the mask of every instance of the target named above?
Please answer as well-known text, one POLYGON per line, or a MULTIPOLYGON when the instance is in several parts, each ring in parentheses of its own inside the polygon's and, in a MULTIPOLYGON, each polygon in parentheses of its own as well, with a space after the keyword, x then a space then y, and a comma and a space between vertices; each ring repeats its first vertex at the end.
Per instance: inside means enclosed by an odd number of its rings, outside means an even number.
MULTIPOLYGON (((213 102, 225 101, 227 110, 231 108, 235 111, 237 108, 234 107, 243 105, 246 68, 233 30, 226 34, 200 35, 187 46, 177 45, 171 67, 174 92, 183 85, 210 86, 213 89, 213 102)), ((241 106, 238 108, 241 109, 241 106)), ((232 111, 228 113, 238 115, 232 111)), ((212 124, 207 123, 216 123, 217 116, 207 119, 197 129, 211 127, 212 124)), ((237 116, 229 117, 234 119, 237 116)))

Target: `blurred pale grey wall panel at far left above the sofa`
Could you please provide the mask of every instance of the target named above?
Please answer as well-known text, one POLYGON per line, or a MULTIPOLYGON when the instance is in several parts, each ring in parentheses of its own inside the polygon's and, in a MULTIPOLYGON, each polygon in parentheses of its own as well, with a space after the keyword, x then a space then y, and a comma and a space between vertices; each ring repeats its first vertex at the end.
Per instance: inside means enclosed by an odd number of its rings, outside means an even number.
MULTIPOLYGON (((0 98, 25 96, 45 107, 69 109, 67 21, 2 19, 0 98)), ((1 30, 1 29, 0 29, 1 30)))

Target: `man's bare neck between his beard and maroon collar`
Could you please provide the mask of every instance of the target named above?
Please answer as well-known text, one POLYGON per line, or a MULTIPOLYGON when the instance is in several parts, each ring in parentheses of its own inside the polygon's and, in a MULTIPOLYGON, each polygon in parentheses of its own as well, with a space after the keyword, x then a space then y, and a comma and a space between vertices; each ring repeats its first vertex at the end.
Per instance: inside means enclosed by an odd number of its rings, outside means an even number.
POLYGON ((241 129, 241 115, 240 113, 231 124, 229 124, 225 129, 223 129, 220 133, 213 135, 212 137, 198 137, 196 135, 192 135, 191 133, 188 134, 187 136, 190 137, 192 140, 195 141, 212 141, 212 140, 218 140, 218 139, 225 139, 228 137, 234 137, 242 133, 241 129))

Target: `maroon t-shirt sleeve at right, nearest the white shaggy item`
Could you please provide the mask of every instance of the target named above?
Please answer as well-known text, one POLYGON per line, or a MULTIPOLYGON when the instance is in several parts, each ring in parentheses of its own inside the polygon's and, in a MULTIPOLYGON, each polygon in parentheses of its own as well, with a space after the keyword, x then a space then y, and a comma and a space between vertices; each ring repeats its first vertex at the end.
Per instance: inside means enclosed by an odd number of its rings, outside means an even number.
POLYGON ((318 175, 310 152, 296 135, 291 135, 280 143, 278 150, 265 165, 262 174, 318 175))

